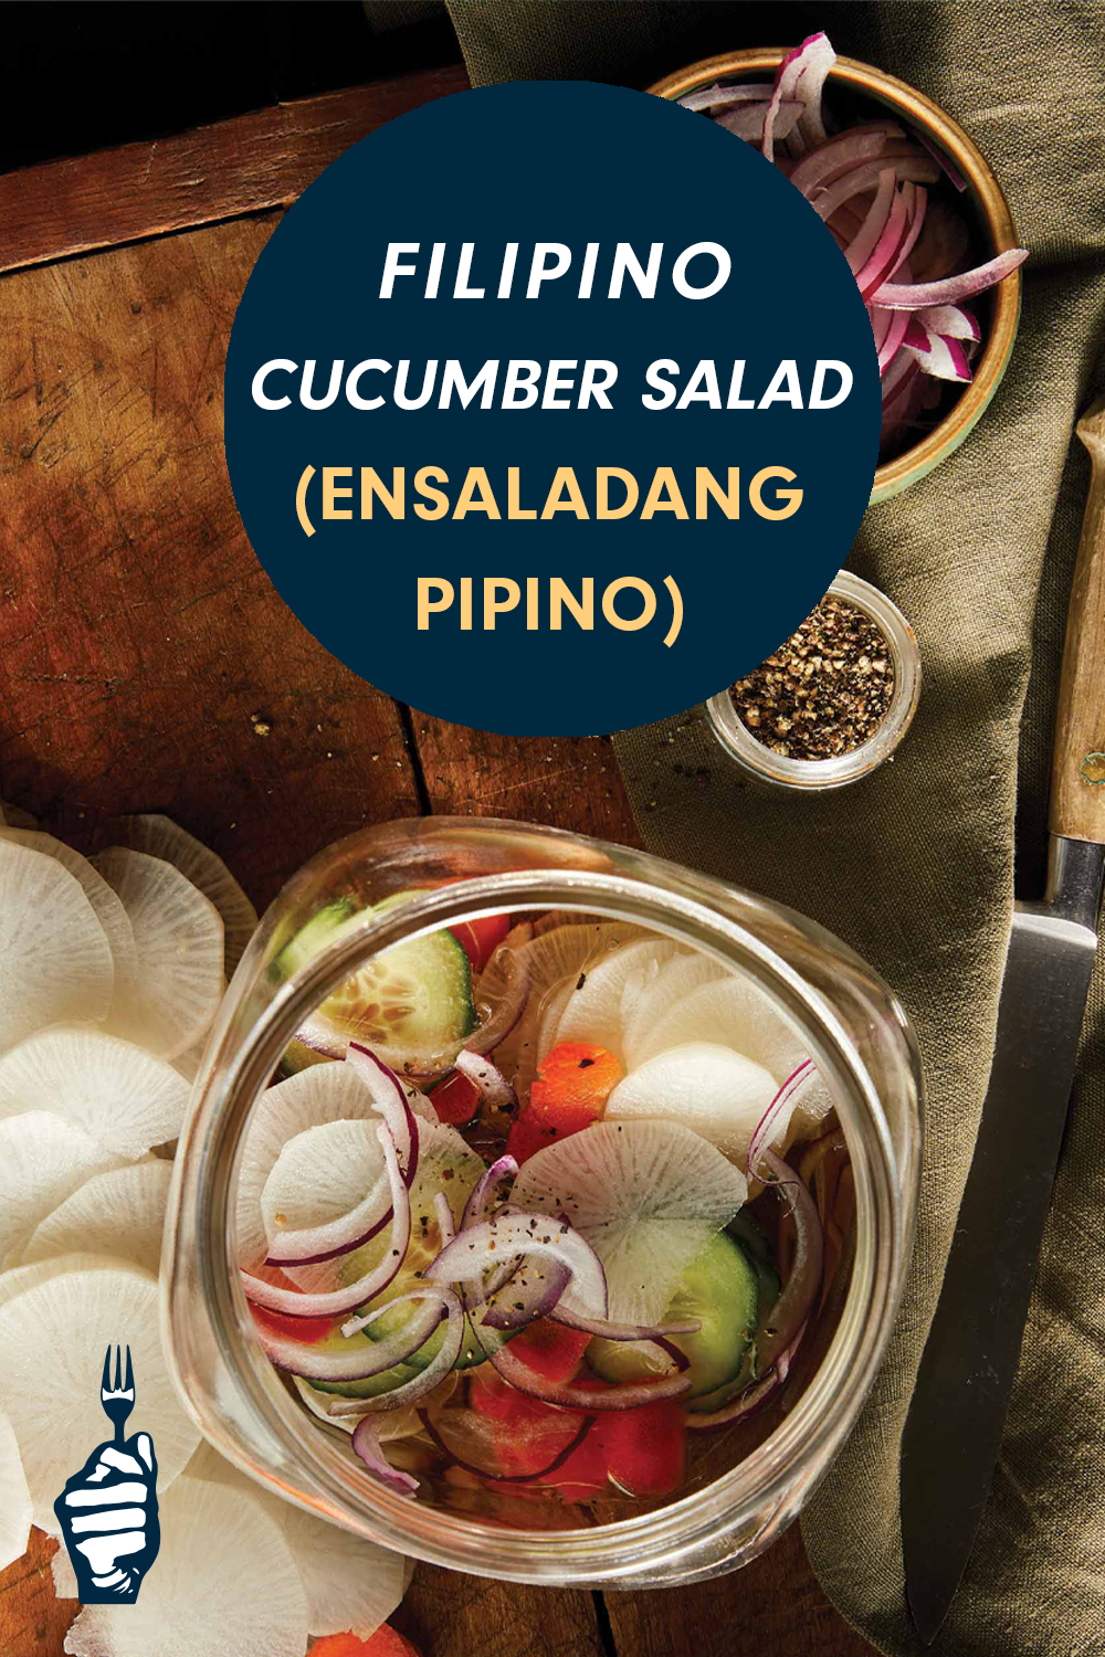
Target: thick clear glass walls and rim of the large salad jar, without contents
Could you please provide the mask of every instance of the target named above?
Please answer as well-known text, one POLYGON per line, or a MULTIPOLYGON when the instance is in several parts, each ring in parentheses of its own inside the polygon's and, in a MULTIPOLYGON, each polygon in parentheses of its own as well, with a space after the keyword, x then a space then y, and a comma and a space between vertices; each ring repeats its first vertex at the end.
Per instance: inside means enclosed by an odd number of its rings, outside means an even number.
POLYGON ((195 1079, 162 1271, 164 1332, 205 1438, 268 1490, 436 1564, 517 1582, 676 1584, 746 1564, 787 1526, 875 1379, 910 1258, 919 1170, 919 1062, 890 989, 838 940, 752 893, 643 852, 522 824, 427 819, 353 835, 285 886, 249 946, 195 1079), (280 949, 335 895, 366 913, 292 976, 280 949), (374 953, 505 910, 633 921, 752 979, 800 1032, 830 1089, 855 1180, 852 1274, 832 1341, 794 1407, 736 1466, 654 1511, 586 1529, 525 1529, 391 1495, 320 1430, 253 1337, 234 1238, 250 1109, 303 1017, 374 953))

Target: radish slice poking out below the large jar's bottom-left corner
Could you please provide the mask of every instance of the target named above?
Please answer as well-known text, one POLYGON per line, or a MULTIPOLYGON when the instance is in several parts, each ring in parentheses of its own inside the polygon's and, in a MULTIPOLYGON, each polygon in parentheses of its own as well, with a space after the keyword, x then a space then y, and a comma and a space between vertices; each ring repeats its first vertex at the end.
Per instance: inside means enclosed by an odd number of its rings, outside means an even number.
MULTIPOLYGON (((384 1418, 381 1415, 379 1425, 384 1418)), ((356 1418, 341 1425, 353 1432, 356 1418)), ((414 1415, 414 1430, 417 1428, 419 1420, 414 1415)), ((300 1572, 306 1592, 306 1622, 315 1639, 325 1634, 353 1634, 366 1640, 403 1599, 406 1586, 403 1554, 353 1536, 290 1501, 282 1501, 270 1490, 249 1483, 245 1475, 210 1445, 199 1447, 189 1461, 187 1476, 244 1490, 272 1514, 300 1572)))

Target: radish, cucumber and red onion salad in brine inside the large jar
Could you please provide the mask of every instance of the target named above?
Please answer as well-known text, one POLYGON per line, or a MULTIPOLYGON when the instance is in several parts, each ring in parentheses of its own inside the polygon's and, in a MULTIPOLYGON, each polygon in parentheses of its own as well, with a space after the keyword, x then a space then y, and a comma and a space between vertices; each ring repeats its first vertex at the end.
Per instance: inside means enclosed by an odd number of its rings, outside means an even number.
MULTIPOLYGON (((359 921, 331 903, 275 971, 359 921)), ((364 963, 283 1072, 244 1147, 245 1294, 391 1490, 623 1518, 736 1465, 817 1369, 847 1145, 797 1029, 712 954, 567 911, 457 925, 364 963)))

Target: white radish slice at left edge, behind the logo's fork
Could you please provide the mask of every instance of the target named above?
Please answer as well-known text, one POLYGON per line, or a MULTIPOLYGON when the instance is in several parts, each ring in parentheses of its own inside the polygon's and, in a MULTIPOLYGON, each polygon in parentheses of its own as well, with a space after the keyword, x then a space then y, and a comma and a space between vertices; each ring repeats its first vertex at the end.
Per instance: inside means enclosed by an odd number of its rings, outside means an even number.
POLYGON ((157 1279, 138 1266, 98 1261, 0 1306, 0 1408, 20 1443, 35 1524, 51 1536, 60 1533, 53 1511, 58 1491, 81 1457, 113 1435, 99 1403, 109 1344, 131 1349, 136 1403, 128 1432, 151 1435, 157 1490, 167 1490, 199 1443, 199 1430, 184 1413, 161 1354, 157 1279))

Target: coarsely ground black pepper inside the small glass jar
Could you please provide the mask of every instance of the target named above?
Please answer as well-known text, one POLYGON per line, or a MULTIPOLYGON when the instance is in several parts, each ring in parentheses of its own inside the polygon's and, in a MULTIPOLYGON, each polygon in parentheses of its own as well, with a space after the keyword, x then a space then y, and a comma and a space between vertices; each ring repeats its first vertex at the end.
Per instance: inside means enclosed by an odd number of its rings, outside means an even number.
POLYGON ((881 630, 832 595, 729 691, 749 734, 790 759, 852 754, 875 736, 893 693, 895 664, 881 630))

